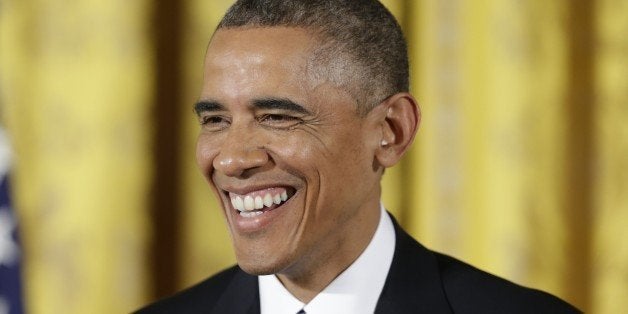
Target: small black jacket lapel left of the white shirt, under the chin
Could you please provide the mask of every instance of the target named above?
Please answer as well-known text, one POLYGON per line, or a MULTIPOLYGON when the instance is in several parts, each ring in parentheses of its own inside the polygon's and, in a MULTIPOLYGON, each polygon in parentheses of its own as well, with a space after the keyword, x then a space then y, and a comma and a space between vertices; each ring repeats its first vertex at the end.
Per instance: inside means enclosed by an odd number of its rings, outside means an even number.
POLYGON ((229 286, 216 302, 212 313, 260 314, 257 276, 238 269, 229 286))

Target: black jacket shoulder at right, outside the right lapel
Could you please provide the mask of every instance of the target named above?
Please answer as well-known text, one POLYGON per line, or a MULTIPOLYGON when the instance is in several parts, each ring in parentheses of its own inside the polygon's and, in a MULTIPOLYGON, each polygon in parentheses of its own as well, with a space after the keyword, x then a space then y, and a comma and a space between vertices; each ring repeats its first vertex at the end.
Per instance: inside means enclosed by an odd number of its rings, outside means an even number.
POLYGON ((540 290, 497 277, 451 256, 433 252, 443 290, 460 313, 580 313, 569 303, 540 290))

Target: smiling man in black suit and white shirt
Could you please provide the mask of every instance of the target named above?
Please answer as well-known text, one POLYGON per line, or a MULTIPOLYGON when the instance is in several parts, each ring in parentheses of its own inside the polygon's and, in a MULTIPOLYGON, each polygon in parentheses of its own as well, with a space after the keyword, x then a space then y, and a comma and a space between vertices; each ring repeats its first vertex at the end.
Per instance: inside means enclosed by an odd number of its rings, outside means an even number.
POLYGON ((572 313, 422 247, 380 205, 420 122, 376 0, 242 0, 207 49, 197 162, 238 266, 141 313, 572 313))

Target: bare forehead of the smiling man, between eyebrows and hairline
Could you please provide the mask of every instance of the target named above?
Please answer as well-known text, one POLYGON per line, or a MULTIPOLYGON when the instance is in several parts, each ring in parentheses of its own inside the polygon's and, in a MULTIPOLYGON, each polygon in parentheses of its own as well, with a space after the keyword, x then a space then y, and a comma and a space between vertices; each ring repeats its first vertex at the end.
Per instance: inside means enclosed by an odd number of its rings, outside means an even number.
POLYGON ((201 98, 303 94, 316 85, 308 75, 313 44, 300 28, 220 29, 207 49, 201 98))

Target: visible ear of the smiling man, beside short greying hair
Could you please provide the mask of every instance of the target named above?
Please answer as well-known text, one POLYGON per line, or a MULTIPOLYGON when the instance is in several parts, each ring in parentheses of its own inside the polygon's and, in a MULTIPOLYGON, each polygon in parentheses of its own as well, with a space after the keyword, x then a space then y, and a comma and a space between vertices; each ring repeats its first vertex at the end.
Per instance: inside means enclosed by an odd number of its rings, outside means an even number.
POLYGON ((421 111, 417 101, 409 93, 398 93, 386 99, 380 106, 385 110, 382 119, 382 138, 375 151, 375 158, 384 167, 394 166, 414 141, 421 111))

